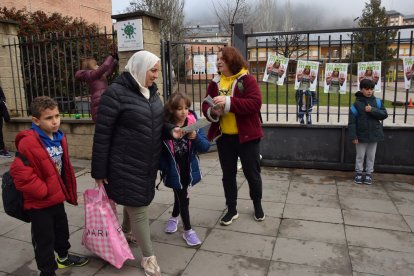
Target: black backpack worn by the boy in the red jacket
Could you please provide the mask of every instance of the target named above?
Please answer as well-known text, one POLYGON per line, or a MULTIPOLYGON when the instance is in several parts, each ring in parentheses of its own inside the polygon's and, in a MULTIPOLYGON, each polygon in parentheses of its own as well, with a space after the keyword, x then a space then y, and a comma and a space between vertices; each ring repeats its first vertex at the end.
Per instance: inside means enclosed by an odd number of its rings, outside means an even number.
MULTIPOLYGON (((25 166, 29 166, 29 160, 19 152, 16 152, 16 157, 20 158, 25 166)), ((3 207, 6 214, 11 217, 20 219, 24 222, 30 222, 29 215, 23 209, 23 195, 20 191, 16 190, 13 178, 10 175, 10 171, 6 171, 3 174, 2 198, 3 207)))

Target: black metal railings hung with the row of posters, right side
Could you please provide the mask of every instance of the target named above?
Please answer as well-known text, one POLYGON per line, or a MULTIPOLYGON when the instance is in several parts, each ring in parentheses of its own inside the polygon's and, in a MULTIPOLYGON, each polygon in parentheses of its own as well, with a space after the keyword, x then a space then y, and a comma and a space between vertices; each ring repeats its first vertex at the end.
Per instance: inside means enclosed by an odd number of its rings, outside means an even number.
POLYGON ((402 66, 402 58, 413 54, 413 30, 414 25, 245 34, 241 39, 247 49, 250 72, 259 81, 263 94, 264 122, 298 120, 294 89, 296 65, 299 60, 309 60, 319 62, 315 91, 318 101, 313 108, 316 122, 346 123, 353 95, 359 90, 356 85, 357 63, 381 61, 381 92, 375 93, 375 96, 385 103, 393 124, 414 124, 414 109, 408 105, 414 97, 414 87, 410 90, 404 88, 402 66), (262 81, 270 53, 290 60, 283 86, 262 81), (346 94, 324 93, 326 63, 349 64, 346 94))

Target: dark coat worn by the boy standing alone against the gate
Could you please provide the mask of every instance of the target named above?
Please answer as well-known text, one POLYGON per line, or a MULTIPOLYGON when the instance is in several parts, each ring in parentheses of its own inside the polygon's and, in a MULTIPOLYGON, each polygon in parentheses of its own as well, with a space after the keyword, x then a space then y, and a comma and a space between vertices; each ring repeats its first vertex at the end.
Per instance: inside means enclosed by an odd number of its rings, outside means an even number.
POLYGON ((377 106, 374 95, 367 98, 362 92, 355 94, 356 101, 354 106, 357 114, 349 111, 348 135, 351 140, 358 139, 360 143, 371 143, 384 140, 383 127, 380 120, 388 117, 384 104, 377 106), (365 112, 365 106, 370 105, 371 112, 365 112))

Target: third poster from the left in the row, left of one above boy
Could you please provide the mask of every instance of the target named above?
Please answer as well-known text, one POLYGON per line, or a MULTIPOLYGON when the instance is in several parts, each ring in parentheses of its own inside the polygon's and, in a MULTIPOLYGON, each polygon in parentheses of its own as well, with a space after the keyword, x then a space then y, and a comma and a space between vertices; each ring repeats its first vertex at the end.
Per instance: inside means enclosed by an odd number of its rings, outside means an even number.
POLYGON ((327 63, 325 66, 325 93, 346 93, 348 63, 327 63))

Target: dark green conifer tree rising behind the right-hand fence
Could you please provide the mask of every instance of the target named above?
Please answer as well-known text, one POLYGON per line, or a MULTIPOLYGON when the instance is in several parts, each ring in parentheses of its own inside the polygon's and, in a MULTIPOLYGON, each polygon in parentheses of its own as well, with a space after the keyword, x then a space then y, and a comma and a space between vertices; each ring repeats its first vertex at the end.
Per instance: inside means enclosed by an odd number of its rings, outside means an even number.
POLYGON ((390 49, 389 46, 394 41, 397 31, 377 29, 378 27, 386 27, 387 23, 388 16, 385 8, 381 7, 381 0, 369 0, 365 3, 358 25, 361 28, 376 29, 355 31, 352 34, 354 62, 380 60, 383 62, 383 66, 386 66, 388 62, 394 59, 393 56, 396 52, 390 49))

